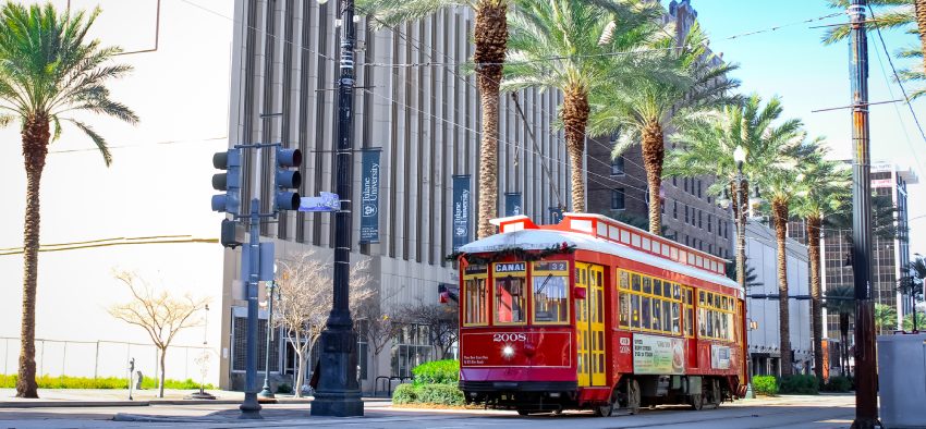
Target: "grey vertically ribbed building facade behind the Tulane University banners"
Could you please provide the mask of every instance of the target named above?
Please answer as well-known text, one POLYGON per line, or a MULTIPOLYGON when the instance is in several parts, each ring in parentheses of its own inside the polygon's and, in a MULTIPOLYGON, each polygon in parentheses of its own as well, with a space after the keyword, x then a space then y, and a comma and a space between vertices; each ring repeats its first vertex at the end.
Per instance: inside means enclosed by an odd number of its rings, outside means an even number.
MULTIPOLYGON (((303 196, 336 188, 336 10, 337 2, 235 0, 230 144, 282 142, 300 148, 305 159, 303 196)), ((458 279, 453 265, 444 260, 452 253, 452 177, 470 175, 471 238, 477 213, 482 110, 475 75, 464 70, 473 56, 473 14, 468 8, 447 8, 417 23, 373 30, 358 12, 355 148, 381 149, 380 214, 378 243, 357 245, 360 216, 354 213, 351 259, 371 260, 369 275, 382 306, 437 303, 439 285, 458 279)), ((557 91, 537 90, 517 97, 525 118, 510 95, 502 96, 500 106, 498 212, 503 216, 510 208, 507 194, 520 193, 519 210, 535 222, 549 223, 550 207, 570 206, 562 133, 551 126, 562 98, 557 91)), ((342 196, 354 201, 361 197, 361 158, 356 152, 354 195, 342 196)), ((269 161, 247 159, 243 169, 249 181, 243 200, 259 196, 265 210, 272 195, 269 161)), ((313 250, 330 260, 332 224, 328 213, 290 212, 266 224, 261 237, 277 241, 278 259, 313 250)), ((246 312, 235 286, 239 260, 240 252, 226 252, 221 385, 235 389, 243 385, 246 312)), ((414 365, 431 358, 427 330, 409 327, 398 335, 379 356, 380 373, 407 376, 414 365)), ((291 373, 291 347, 285 342, 272 347, 271 373, 291 373)), ((367 371, 370 358, 370 353, 360 356, 365 389, 378 376, 367 371)))

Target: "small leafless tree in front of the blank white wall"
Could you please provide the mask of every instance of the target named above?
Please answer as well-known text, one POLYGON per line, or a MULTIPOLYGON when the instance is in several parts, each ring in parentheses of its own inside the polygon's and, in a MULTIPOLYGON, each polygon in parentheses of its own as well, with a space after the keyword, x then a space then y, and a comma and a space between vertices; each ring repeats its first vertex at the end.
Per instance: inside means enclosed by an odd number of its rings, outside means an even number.
POLYGON ((165 397, 167 350, 182 329, 202 324, 203 318, 193 315, 203 309, 209 298, 194 298, 188 293, 176 297, 167 291, 155 291, 148 282, 130 271, 117 271, 113 275, 129 287, 132 301, 113 305, 109 308, 109 314, 126 323, 143 328, 155 347, 160 351, 158 397, 165 397))

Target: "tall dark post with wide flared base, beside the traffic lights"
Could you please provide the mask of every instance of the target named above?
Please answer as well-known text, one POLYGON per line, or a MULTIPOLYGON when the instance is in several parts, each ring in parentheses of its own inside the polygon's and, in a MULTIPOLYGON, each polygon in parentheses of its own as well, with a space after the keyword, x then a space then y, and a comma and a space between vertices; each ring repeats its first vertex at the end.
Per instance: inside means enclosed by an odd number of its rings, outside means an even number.
POLYGON ((313 416, 363 416, 357 383, 357 339, 349 306, 351 275, 352 163, 354 146, 354 0, 341 0, 341 78, 338 83, 338 195, 334 214, 334 291, 331 314, 321 332, 321 357, 313 416))

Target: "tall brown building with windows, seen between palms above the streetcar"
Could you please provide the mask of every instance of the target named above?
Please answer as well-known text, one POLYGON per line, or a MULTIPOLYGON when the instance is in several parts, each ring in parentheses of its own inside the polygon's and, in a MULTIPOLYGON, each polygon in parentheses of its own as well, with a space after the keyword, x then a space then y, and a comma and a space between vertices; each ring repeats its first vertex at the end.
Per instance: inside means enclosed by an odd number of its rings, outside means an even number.
MULTIPOLYGON (((671 1, 662 16, 674 22, 677 38, 683 40, 697 17, 690 0, 671 1)), ((718 64, 720 58, 714 58, 718 64)), ((666 133, 667 150, 673 149, 666 133)), ((588 211, 643 226, 648 224, 649 192, 641 147, 611 158, 610 137, 589 138, 587 146, 588 211)), ((666 236, 678 243, 722 258, 732 258, 732 214, 707 195, 712 177, 663 180, 660 201, 666 236)))

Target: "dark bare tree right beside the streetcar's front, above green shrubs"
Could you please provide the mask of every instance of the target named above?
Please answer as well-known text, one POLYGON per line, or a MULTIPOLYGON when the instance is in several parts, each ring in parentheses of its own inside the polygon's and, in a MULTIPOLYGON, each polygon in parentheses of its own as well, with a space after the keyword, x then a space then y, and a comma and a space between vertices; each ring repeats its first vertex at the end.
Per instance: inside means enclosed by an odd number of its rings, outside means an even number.
POLYGON ((419 299, 400 307, 399 312, 402 322, 406 324, 421 323, 428 327, 428 340, 438 359, 453 357, 450 356, 450 348, 456 344, 460 335, 460 309, 456 305, 425 304, 419 299))

